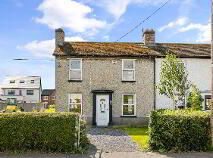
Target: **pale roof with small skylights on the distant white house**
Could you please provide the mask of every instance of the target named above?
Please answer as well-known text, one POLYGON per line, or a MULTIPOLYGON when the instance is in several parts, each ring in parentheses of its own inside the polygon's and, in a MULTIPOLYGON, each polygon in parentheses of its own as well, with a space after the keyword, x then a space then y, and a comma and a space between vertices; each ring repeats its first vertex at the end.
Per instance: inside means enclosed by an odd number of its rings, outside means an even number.
POLYGON ((1 86, 2 89, 6 88, 41 88, 41 77, 40 76, 26 76, 26 77, 6 77, 1 86), (34 83, 31 83, 34 80, 34 83), (10 83, 10 81, 15 81, 15 83, 10 83), (21 81, 21 82, 20 82, 21 81), (22 82, 24 81, 24 82, 22 82))

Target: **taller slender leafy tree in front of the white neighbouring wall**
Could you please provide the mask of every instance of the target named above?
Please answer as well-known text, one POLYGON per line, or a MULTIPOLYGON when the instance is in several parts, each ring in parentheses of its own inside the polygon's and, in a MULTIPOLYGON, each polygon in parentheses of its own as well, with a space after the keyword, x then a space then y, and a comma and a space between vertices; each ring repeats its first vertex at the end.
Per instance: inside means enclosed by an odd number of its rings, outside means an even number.
POLYGON ((160 67, 160 83, 157 85, 159 93, 172 99, 173 105, 186 105, 187 91, 191 85, 187 78, 184 63, 168 52, 160 67))

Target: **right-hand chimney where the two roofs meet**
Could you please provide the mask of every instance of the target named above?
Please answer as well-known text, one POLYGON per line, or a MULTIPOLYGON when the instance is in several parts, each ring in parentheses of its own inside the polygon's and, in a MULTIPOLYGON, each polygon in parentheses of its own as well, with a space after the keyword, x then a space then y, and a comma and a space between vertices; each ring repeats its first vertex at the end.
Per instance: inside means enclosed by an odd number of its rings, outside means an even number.
POLYGON ((143 37, 145 45, 155 44, 155 31, 153 29, 146 29, 143 33, 143 37))

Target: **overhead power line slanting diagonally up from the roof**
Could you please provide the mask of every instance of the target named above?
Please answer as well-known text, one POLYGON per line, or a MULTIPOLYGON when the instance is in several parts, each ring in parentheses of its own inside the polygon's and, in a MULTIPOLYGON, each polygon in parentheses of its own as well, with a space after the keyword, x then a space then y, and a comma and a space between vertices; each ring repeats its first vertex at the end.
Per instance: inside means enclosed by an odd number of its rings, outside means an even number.
POLYGON ((131 30, 129 30, 127 33, 125 33, 123 36, 121 36, 119 39, 116 40, 116 42, 120 41, 122 38, 126 37, 128 34, 133 32, 135 29, 137 29, 141 24, 145 23, 147 20, 149 20, 153 15, 155 15, 159 10, 161 10, 165 5, 167 5, 171 0, 167 0, 165 3, 163 3, 158 9, 156 9, 152 14, 150 14, 148 17, 146 17, 143 21, 141 21, 139 24, 137 24, 135 27, 133 27, 131 30))

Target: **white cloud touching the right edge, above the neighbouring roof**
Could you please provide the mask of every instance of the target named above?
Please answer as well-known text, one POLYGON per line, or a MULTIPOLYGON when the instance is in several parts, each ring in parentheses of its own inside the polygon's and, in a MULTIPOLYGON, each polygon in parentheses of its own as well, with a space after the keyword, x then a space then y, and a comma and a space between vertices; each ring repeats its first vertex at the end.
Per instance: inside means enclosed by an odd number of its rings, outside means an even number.
POLYGON ((177 32, 187 32, 187 31, 192 31, 192 30, 197 30, 198 35, 197 39, 195 42, 198 43, 210 43, 211 41, 211 25, 210 23, 208 24, 195 24, 195 23, 190 23, 187 26, 184 26, 180 28, 177 32))

